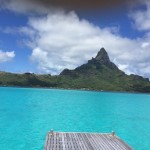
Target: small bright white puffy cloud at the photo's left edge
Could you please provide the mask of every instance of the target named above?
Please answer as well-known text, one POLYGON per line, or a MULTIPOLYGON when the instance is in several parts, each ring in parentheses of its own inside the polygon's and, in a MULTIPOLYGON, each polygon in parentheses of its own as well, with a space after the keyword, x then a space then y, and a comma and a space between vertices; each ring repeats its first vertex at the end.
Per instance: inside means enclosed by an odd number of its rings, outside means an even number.
POLYGON ((4 52, 4 51, 0 50, 0 63, 10 61, 14 57, 15 57, 15 52, 14 51, 4 52))

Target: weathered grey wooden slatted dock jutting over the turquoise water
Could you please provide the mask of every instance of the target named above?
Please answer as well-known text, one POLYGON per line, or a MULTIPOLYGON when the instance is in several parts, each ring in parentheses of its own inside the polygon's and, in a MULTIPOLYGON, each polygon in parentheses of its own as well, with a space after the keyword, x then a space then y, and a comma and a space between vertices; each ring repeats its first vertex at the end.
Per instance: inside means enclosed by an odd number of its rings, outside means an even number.
POLYGON ((112 134, 49 132, 44 150, 133 150, 112 134))

